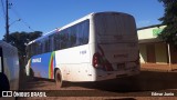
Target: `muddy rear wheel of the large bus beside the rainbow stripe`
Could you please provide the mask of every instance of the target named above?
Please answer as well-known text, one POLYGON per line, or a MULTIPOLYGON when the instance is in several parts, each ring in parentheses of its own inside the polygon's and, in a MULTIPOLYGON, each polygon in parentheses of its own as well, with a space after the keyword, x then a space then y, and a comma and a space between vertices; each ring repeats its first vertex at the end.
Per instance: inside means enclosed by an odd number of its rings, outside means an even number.
POLYGON ((60 70, 55 72, 55 83, 59 89, 62 87, 62 74, 60 70))

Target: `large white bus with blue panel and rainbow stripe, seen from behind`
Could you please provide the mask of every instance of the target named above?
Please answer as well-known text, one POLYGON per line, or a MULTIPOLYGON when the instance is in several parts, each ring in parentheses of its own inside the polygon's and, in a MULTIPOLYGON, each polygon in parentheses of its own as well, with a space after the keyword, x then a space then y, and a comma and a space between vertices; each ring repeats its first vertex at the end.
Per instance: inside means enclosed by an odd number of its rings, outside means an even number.
POLYGON ((62 81, 101 81, 139 73, 134 17, 97 12, 31 41, 27 74, 62 81))

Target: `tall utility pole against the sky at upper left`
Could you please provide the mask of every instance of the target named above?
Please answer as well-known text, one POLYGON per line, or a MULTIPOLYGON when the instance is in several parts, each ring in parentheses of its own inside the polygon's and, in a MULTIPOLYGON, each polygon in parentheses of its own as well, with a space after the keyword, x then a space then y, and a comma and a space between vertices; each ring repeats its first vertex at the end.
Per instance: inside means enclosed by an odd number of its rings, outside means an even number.
POLYGON ((9 1, 6 0, 6 41, 9 42, 9 1))

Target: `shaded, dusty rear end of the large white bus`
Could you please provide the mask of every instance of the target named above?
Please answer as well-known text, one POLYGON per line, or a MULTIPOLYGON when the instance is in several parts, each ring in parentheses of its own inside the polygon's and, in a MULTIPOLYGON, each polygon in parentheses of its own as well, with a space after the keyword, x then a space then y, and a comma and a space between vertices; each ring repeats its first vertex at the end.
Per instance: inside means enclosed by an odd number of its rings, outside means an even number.
POLYGON ((114 79, 139 73, 138 38, 132 16, 101 12, 93 16, 95 49, 94 80, 114 79))

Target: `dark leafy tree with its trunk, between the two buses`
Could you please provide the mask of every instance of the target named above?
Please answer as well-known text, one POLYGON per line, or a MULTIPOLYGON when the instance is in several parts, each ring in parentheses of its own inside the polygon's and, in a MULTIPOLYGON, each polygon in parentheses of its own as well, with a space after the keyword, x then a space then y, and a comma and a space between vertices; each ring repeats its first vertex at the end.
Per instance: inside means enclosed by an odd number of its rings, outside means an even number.
MULTIPOLYGON (((20 86, 23 84, 23 82, 27 80, 25 73, 24 73, 24 67, 27 64, 25 62, 25 47, 27 44, 41 37, 41 31, 34 31, 34 32, 12 32, 9 34, 9 43, 18 48, 19 52, 19 62, 20 62, 20 79, 22 82, 20 82, 20 86)), ((6 40, 6 36, 3 36, 3 41, 6 40)))

